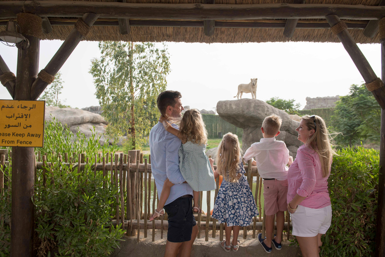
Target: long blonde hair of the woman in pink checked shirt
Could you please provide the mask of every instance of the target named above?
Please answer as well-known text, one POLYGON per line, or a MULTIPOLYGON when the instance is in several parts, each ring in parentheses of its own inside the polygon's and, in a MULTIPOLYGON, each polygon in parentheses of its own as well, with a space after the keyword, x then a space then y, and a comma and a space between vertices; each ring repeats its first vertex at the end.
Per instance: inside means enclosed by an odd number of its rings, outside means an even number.
POLYGON ((326 177, 329 174, 331 161, 335 152, 331 148, 330 134, 325 121, 317 115, 305 115, 302 119, 305 121, 305 125, 309 130, 315 131, 315 133, 308 138, 306 145, 318 153, 319 160, 321 161, 322 176, 326 177))

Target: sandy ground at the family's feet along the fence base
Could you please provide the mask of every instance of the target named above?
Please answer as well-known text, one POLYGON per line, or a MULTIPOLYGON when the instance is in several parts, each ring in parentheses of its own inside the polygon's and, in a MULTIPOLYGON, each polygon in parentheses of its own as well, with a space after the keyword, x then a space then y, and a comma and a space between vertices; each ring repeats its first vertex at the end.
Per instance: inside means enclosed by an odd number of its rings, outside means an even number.
MULTIPOLYGON (((164 249, 166 244, 167 231, 164 231, 163 239, 160 238, 160 231, 156 230, 155 240, 152 242, 152 231, 148 230, 147 238, 144 238, 144 231, 140 231, 140 239, 138 241, 137 235, 135 236, 123 236, 120 243, 120 247, 115 249, 115 252, 111 254, 111 257, 158 257, 164 255, 164 249)), ((208 241, 205 240, 205 231, 201 232, 201 238, 197 238, 191 251, 192 257, 223 257, 223 256, 288 256, 296 257, 301 256, 299 247, 289 246, 290 241, 282 242, 282 249, 276 250, 273 247, 271 253, 267 253, 263 250, 259 244, 257 238, 252 237, 252 231, 249 231, 247 238, 243 238, 243 230, 239 233, 239 240, 241 241, 238 252, 230 251, 225 252, 219 245, 219 231, 216 234, 216 238, 212 237, 212 231, 209 233, 208 241)), ((258 231, 256 232, 256 237, 258 231)), ((285 237, 286 235, 284 235, 285 237)))

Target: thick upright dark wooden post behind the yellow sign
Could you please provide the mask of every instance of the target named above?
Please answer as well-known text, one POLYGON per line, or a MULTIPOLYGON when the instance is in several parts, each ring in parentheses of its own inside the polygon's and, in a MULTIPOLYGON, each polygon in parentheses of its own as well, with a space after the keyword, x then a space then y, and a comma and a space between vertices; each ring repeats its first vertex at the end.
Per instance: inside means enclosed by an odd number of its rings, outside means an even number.
MULTIPOLYGON (((15 100, 31 100, 38 75, 40 39, 25 35, 30 47, 18 51, 15 100)), ((12 148, 11 255, 32 256, 34 241, 35 153, 33 147, 12 148)))

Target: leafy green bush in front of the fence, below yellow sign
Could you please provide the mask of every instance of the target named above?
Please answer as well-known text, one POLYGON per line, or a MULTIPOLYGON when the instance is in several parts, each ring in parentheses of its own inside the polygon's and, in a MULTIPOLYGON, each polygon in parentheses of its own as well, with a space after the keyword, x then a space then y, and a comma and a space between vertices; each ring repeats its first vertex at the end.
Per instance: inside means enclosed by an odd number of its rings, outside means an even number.
MULTIPOLYGON (((110 226, 117 188, 108 182, 103 189, 103 175, 94 174, 91 165, 79 174, 75 164, 64 166, 58 157, 58 153, 84 153, 92 164, 98 151, 105 155, 114 149, 100 146, 95 132, 88 140, 78 133, 75 140, 57 120, 46 122, 44 148, 36 151, 48 153, 48 161, 55 164, 46 167, 45 176, 43 170, 36 174, 34 256, 108 256, 118 246, 123 231, 110 226)), ((10 216, 10 199, 0 197, 2 216, 10 216)), ((0 226, 0 256, 9 256, 9 234, 9 224, 0 226)))

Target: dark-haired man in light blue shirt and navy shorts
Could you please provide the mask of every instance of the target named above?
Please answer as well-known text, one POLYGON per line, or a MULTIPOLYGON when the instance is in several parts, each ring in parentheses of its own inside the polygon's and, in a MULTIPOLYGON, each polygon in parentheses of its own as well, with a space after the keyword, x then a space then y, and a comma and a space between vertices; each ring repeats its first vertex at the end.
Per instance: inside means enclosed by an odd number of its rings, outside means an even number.
MULTIPOLYGON (((178 91, 164 91, 156 100, 160 113, 168 118, 181 117, 184 109, 178 91)), ((172 124, 177 128, 175 124, 172 124)), ((179 170, 178 150, 181 141, 167 132, 158 122, 149 136, 151 172, 154 176, 158 196, 163 183, 168 180, 174 185, 164 205, 168 214, 167 242, 164 256, 190 256, 191 248, 198 233, 193 215, 193 189, 185 182, 179 170)))

